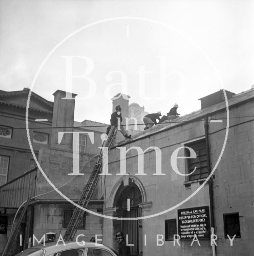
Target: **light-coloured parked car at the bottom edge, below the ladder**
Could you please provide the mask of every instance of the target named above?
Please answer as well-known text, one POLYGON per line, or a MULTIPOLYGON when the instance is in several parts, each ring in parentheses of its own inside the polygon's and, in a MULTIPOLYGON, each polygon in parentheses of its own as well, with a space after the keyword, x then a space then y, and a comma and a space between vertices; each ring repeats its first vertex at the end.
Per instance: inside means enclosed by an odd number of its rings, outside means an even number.
POLYGON ((109 247, 101 244, 96 245, 92 242, 86 242, 85 245, 79 245, 76 242, 66 242, 65 245, 55 242, 44 245, 33 246, 16 254, 16 256, 117 256, 109 247))

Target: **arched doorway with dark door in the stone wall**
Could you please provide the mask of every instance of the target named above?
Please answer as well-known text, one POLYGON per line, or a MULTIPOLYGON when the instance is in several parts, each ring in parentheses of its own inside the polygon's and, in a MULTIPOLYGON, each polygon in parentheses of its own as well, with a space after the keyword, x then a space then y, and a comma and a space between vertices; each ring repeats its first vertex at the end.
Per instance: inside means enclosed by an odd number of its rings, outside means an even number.
MULTIPOLYGON (((142 216, 139 204, 142 203, 142 196, 139 188, 132 182, 128 186, 121 186, 117 191, 115 198, 115 207, 119 217, 122 218, 137 218, 142 216)), ((120 228, 119 224, 115 228, 120 228)), ((142 255, 142 220, 121 220, 121 231, 128 235, 128 244, 130 246, 131 256, 142 255)))

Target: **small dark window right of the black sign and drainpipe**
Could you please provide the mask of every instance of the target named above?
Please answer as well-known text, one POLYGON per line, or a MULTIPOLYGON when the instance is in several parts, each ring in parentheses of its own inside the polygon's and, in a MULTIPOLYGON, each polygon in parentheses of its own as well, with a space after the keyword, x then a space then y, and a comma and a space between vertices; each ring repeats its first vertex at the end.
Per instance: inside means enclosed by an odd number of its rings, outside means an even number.
POLYGON ((224 236, 225 238, 232 238, 236 235, 236 238, 240 238, 240 222, 239 213, 223 214, 224 219, 224 236), (227 236, 228 235, 228 236, 227 236))

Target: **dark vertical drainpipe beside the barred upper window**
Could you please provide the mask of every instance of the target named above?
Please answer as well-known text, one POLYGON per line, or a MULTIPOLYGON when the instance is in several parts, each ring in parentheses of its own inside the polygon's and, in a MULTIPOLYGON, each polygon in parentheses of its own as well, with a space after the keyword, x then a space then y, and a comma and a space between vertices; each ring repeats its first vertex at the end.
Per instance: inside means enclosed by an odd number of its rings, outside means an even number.
MULTIPOLYGON (((207 155, 207 169, 208 175, 211 173, 211 162, 210 162, 210 148, 209 148, 209 139, 208 139, 208 116, 205 118, 204 122, 204 134, 206 140, 206 155, 207 155)), ((212 188, 212 177, 208 180, 209 186, 209 200, 210 200, 210 216, 211 216, 211 234, 214 234, 214 203, 213 203, 213 188, 212 188)), ((212 256, 216 256, 216 246, 212 244, 212 256)))

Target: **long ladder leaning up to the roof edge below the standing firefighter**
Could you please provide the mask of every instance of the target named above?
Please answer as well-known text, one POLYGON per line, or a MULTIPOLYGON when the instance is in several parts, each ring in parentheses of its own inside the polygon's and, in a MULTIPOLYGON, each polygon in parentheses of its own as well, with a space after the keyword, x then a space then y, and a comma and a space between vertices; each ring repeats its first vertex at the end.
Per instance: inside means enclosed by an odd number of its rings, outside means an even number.
MULTIPOLYGON (((112 126, 109 131, 107 140, 103 142, 103 147, 107 147, 108 149, 110 149, 112 147, 116 132, 117 132, 117 129, 114 126, 112 126)), ((101 151, 99 153, 97 162, 93 168, 91 176, 89 177, 89 180, 87 181, 87 184, 85 185, 85 187, 83 189, 81 198, 79 199, 79 202, 77 203, 79 206, 81 206, 83 208, 87 208, 88 203, 89 203, 91 197, 93 196, 93 192, 94 192, 97 182, 99 180, 99 173, 101 172, 101 168, 102 168, 102 164, 103 164, 102 150, 103 149, 101 149, 101 151)), ((67 226, 66 232, 64 234, 64 241, 72 241, 73 240, 84 213, 85 213, 84 210, 80 209, 77 206, 75 207, 75 210, 73 211, 73 214, 72 214, 69 224, 67 226)))

